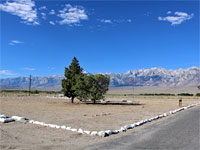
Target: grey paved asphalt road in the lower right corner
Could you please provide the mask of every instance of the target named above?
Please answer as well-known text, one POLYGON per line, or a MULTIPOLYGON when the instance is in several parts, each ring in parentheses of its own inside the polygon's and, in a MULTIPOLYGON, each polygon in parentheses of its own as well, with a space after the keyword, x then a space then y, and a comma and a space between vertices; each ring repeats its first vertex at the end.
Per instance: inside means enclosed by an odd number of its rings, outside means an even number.
POLYGON ((86 149, 200 150, 200 107, 180 112, 137 133, 86 149))

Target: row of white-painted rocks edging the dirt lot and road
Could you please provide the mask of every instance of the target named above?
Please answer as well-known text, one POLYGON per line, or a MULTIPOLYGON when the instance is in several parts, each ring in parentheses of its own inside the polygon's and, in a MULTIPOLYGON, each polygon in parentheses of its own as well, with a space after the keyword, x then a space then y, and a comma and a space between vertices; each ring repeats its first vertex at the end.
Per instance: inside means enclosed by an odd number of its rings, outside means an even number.
MULTIPOLYGON (((75 128, 72 128, 72 127, 67 127, 65 125, 59 126, 59 125, 56 125, 56 124, 47 124, 45 122, 40 122, 40 121, 35 121, 35 120, 29 120, 28 122, 31 123, 31 124, 35 124, 35 125, 41 125, 41 126, 51 127, 51 128, 55 128, 55 129, 64 129, 64 130, 68 130, 68 131, 72 131, 72 132, 77 132, 77 133, 80 133, 80 134, 87 134, 87 135, 92 135, 92 136, 105 137, 105 136, 109 136, 109 135, 112 135, 112 134, 118 134, 120 132, 126 132, 128 129, 133 129, 135 127, 147 124, 147 123, 152 122, 154 120, 161 119, 163 117, 167 117, 169 114, 175 114, 175 113, 177 113, 179 111, 194 107, 194 106, 199 105, 199 104, 200 104, 200 102, 197 103, 197 104, 192 104, 192 105, 189 105, 189 106, 186 106, 186 107, 175 109, 173 111, 170 111, 169 113, 164 113, 164 114, 152 117, 150 119, 142 120, 142 121, 139 121, 139 122, 136 122, 136 123, 133 123, 133 124, 128 124, 128 125, 125 125, 125 126, 121 127, 119 130, 88 131, 88 130, 83 130, 81 128, 75 129, 75 128)), ((0 115, 0 121, 1 121, 1 118, 6 119, 6 116, 5 115, 0 115)), ((24 120, 26 120, 25 117, 19 117, 19 116, 12 116, 11 118, 7 118, 7 119, 13 119, 15 121, 24 121, 24 120)))

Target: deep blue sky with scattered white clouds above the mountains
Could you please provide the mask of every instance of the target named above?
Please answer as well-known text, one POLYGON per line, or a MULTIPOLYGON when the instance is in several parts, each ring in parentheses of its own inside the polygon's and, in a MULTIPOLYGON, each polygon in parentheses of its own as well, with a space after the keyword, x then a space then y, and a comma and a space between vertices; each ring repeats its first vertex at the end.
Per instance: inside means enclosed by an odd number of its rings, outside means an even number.
POLYGON ((198 1, 0 2, 0 78, 199 66, 198 1))

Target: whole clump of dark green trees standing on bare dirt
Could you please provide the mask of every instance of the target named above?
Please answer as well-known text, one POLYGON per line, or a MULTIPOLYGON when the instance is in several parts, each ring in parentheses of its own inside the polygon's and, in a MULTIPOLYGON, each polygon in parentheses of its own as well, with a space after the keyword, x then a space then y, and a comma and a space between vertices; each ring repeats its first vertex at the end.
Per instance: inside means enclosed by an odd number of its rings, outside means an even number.
POLYGON ((110 77, 103 74, 88 75, 82 73, 76 57, 73 58, 69 68, 65 68, 65 79, 62 80, 62 91, 64 96, 81 101, 103 99, 104 94, 108 91, 110 77))

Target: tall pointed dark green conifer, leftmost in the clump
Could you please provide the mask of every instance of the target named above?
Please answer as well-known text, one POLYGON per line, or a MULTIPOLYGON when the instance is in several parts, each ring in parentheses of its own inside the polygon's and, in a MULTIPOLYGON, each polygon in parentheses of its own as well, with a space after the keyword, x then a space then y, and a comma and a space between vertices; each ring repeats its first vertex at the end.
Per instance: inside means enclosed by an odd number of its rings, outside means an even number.
POLYGON ((77 97, 77 83, 80 76, 82 76, 82 68, 79 65, 76 57, 73 58, 69 68, 65 68, 65 79, 62 80, 62 91, 64 96, 71 98, 71 102, 74 102, 74 98, 77 97))

